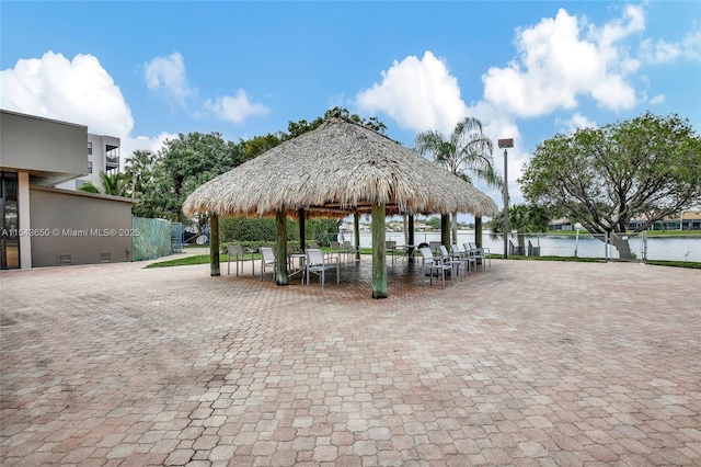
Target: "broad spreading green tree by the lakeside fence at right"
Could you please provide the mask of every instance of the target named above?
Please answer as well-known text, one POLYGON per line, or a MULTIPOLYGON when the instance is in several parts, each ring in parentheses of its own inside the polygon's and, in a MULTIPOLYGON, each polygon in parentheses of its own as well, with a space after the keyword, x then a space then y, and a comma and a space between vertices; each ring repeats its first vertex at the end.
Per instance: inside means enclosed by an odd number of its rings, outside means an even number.
POLYGON ((701 138, 688 121, 650 112, 540 144, 519 180, 531 203, 560 209, 590 234, 609 234, 632 259, 631 219, 650 228, 701 200, 701 138))

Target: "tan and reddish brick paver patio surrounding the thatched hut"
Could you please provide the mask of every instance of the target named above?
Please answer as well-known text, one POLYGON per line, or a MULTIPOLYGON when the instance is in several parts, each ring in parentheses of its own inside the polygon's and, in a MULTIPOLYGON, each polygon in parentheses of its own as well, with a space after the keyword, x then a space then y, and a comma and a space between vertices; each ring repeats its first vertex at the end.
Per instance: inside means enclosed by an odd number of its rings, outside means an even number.
POLYGON ((701 465, 701 271, 0 274, 2 466, 701 465))

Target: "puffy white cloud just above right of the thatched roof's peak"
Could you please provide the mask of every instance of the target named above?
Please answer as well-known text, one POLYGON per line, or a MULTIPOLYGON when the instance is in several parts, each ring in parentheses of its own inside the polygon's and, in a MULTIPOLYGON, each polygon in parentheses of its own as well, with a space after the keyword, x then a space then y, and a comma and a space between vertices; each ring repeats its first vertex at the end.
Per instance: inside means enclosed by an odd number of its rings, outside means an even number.
POLYGON ((415 132, 449 134, 467 115, 458 80, 429 50, 421 59, 394 60, 382 71, 382 82, 357 93, 356 104, 365 112, 382 111, 400 127, 415 132))

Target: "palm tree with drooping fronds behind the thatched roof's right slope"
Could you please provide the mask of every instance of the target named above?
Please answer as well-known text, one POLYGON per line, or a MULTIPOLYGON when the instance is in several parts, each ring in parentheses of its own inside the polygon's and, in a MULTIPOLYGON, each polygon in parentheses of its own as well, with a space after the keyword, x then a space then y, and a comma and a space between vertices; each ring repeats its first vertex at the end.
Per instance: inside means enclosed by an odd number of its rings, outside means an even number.
MULTIPOLYGON (((458 122, 446 139, 437 130, 428 130, 416 135, 416 150, 421 155, 430 155, 434 162, 445 167, 453 175, 472 183, 468 173, 484 181, 490 186, 502 187, 502 178, 494 170, 492 140, 482 132, 482 122, 474 117, 466 117, 458 122)), ((482 217, 475 217, 475 242, 482 246, 482 217)), ((452 242, 458 242, 458 213, 452 213, 452 242)))

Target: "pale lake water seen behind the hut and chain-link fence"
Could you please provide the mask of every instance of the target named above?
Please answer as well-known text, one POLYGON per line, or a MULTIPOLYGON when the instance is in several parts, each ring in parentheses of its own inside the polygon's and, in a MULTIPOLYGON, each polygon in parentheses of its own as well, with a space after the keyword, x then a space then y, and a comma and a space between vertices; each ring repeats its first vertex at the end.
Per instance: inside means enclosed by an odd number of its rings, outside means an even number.
MULTIPOLYGON (((405 244, 403 232, 387 232, 387 240, 397 241, 398 246, 405 244)), ((344 232, 342 240, 349 240, 354 243, 353 232, 344 232)), ((591 236, 579 236, 578 243, 575 236, 556 236, 540 235, 527 237, 536 248, 540 248, 542 257, 574 257, 575 247, 577 257, 579 258, 607 258, 606 244, 604 241, 591 236)), ((414 243, 428 243, 432 241, 440 241, 440 232, 415 232, 414 243)), ((512 236, 512 241, 517 244, 516 236, 512 236)), ((458 242, 460 244, 474 242, 474 230, 458 230, 458 242)), ((642 238, 631 238, 629 240, 631 251, 636 258, 643 257, 644 243, 642 238)), ((503 253, 504 242, 502 239, 493 240, 489 232, 483 232, 482 246, 490 248, 492 253, 503 253)), ((360 232, 360 248, 372 247, 371 232, 360 232)), ((618 251, 613 247, 609 247, 608 258, 618 259, 618 251)), ((701 236, 696 237, 648 237, 647 238, 647 260, 666 260, 666 261, 697 261, 701 262, 701 236)))

